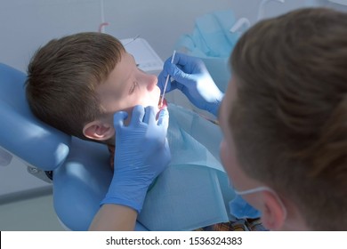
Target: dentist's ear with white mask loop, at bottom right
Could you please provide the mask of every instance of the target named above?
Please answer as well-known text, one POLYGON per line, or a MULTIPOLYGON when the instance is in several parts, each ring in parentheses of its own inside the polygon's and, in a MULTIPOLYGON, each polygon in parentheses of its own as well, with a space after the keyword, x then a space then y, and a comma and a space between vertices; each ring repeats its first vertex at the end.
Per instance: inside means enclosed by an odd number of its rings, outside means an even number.
POLYGON ((281 229, 286 221, 286 210, 276 194, 262 191, 262 223, 270 230, 281 229))

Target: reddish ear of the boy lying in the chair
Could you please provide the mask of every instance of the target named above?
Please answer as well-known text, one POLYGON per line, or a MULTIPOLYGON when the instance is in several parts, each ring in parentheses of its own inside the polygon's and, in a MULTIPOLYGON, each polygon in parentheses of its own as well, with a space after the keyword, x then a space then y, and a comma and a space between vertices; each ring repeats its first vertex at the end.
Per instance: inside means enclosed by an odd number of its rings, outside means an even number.
POLYGON ((100 120, 95 120, 93 122, 85 124, 83 133, 85 137, 89 139, 96 141, 106 141, 114 136, 115 128, 112 125, 101 122, 100 120))

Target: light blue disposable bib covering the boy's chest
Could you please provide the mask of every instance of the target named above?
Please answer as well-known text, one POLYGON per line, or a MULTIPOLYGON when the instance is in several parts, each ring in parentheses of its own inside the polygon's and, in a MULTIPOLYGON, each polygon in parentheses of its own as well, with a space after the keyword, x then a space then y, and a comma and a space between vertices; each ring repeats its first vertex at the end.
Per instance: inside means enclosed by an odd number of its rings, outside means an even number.
POLYGON ((172 161, 149 190, 138 221, 149 230, 192 230, 234 220, 229 203, 236 195, 220 163, 220 127, 173 104, 169 113, 172 161))

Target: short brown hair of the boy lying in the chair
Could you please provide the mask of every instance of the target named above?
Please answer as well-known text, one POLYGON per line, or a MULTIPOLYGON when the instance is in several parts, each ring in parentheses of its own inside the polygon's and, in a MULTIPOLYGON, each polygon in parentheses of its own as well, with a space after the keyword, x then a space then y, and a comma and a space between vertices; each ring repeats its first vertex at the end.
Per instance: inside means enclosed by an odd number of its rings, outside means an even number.
POLYGON ((85 139, 85 124, 103 110, 95 88, 121 60, 117 38, 86 32, 53 39, 28 65, 26 93, 33 113, 62 132, 85 139))

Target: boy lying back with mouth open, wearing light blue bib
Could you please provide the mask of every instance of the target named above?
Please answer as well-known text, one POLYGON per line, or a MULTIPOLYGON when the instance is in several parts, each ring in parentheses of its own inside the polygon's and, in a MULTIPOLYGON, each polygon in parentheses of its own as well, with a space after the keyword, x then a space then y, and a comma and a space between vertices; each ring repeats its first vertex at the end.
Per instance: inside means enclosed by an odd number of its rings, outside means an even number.
MULTIPOLYGON (((115 37, 101 33, 65 36, 41 47, 28 65, 26 91, 31 110, 45 123, 82 140, 105 144, 111 167, 117 139, 114 113, 126 111, 125 124, 129 124, 136 105, 152 106, 157 112, 163 108, 158 107, 157 76, 137 68, 115 37)), ((214 131, 218 148, 219 128, 173 104, 168 109, 172 161, 149 188, 137 210, 138 221, 149 230, 214 229, 221 222, 228 229, 235 229, 234 223, 239 227, 238 213, 227 212, 235 194, 218 155, 198 141, 209 131, 198 134, 197 130, 206 127, 214 131)))

